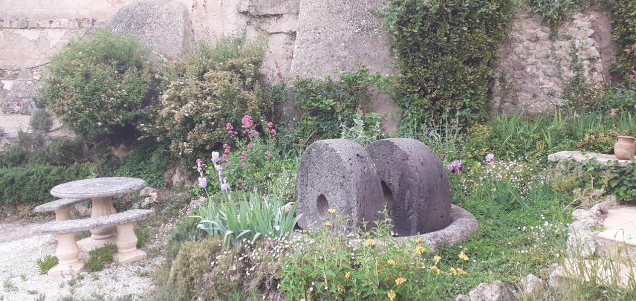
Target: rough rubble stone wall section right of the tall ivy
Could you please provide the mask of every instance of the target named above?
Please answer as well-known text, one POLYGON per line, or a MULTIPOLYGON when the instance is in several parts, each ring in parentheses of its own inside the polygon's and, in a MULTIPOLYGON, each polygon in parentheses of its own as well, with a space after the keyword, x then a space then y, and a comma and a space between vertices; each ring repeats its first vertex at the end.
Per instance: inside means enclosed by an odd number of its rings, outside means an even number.
POLYGON ((516 15, 508 41, 499 49, 499 65, 492 82, 495 108, 508 113, 550 112, 562 104, 563 88, 574 75, 573 46, 584 73, 599 88, 609 80, 614 45, 607 13, 576 13, 550 39, 550 27, 538 15, 516 15))

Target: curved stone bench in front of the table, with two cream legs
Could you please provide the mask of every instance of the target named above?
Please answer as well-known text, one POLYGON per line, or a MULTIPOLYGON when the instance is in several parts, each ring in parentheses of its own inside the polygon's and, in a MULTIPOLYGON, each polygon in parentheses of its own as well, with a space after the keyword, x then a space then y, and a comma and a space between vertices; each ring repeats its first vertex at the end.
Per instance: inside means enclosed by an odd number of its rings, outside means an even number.
POLYGON ((153 217, 154 210, 128 210, 102 217, 84 218, 81 220, 55 220, 31 229, 34 235, 55 234, 57 250, 55 256, 59 264, 48 271, 48 275, 75 274, 84 269, 84 262, 79 260, 79 246, 75 241, 75 233, 104 227, 117 227, 117 253, 113 258, 118 264, 128 264, 146 258, 146 252, 137 249, 137 236, 134 224, 139 220, 153 217))

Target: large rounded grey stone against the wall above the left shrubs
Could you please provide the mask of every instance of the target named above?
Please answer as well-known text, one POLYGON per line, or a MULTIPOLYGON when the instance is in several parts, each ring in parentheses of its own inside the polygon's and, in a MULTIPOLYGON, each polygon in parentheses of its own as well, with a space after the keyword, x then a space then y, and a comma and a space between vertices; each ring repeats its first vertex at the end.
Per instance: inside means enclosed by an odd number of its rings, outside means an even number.
POLYGON ((109 25, 115 31, 136 34, 142 43, 163 55, 182 55, 189 43, 190 13, 176 1, 129 4, 114 13, 109 25))

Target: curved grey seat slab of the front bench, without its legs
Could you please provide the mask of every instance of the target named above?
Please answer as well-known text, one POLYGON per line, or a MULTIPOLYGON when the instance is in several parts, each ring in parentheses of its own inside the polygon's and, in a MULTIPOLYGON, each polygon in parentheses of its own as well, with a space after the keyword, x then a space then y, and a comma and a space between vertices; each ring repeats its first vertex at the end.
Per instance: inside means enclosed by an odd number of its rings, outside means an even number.
POLYGON ((31 229, 30 233, 34 235, 41 235, 87 231, 137 222, 139 220, 145 220, 146 218, 153 217, 154 215, 155 210, 135 209, 102 217, 83 218, 80 220, 56 220, 34 227, 31 229))

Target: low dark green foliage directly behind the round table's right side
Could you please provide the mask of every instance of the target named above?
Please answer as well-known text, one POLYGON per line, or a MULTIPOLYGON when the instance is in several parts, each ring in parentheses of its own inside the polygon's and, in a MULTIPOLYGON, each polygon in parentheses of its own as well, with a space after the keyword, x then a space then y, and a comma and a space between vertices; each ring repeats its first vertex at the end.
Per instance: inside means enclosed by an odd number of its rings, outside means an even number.
POLYGON ((134 145, 134 150, 123 160, 114 171, 117 177, 142 178, 150 187, 163 187, 163 173, 170 159, 168 144, 156 143, 151 139, 144 139, 134 145))

